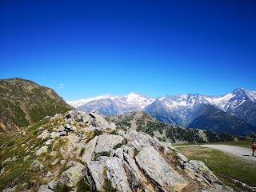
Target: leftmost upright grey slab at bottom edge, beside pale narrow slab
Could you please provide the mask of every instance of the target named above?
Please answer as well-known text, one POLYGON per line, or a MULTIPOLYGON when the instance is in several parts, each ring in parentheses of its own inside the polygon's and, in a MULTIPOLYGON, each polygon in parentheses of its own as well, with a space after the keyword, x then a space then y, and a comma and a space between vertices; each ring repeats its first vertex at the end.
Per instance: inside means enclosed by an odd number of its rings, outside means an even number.
POLYGON ((93 191, 104 191, 103 184, 106 177, 104 171, 106 171, 105 161, 87 162, 86 181, 93 191))

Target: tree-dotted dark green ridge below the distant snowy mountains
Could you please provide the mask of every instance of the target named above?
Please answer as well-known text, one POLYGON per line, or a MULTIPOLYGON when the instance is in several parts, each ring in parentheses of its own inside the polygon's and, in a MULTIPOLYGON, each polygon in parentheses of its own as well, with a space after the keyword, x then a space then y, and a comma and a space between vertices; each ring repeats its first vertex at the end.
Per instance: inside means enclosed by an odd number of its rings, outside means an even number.
POLYGON ((238 140, 237 136, 228 133, 214 133, 208 130, 184 128, 182 126, 169 125, 158 121, 150 114, 142 111, 133 111, 123 115, 105 116, 108 122, 114 122, 116 126, 129 126, 130 130, 137 130, 150 134, 163 142, 171 143, 202 143, 202 142, 230 142, 238 140))

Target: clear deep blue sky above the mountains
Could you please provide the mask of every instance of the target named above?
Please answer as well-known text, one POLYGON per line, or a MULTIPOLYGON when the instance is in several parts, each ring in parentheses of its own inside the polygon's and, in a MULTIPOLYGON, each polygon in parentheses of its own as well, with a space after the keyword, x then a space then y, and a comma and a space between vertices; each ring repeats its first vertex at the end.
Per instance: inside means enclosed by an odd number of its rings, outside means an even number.
POLYGON ((256 1, 0 1, 0 78, 73 100, 256 90, 256 1))

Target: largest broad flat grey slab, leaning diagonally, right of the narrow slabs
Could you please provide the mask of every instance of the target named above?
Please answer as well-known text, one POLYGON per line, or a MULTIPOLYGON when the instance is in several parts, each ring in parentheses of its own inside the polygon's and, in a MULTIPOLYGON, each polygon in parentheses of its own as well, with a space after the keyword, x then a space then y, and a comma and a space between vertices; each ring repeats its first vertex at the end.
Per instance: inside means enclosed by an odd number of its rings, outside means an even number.
POLYGON ((138 166, 157 186, 165 190, 182 190, 185 179, 178 174, 153 146, 144 147, 135 157, 138 166))

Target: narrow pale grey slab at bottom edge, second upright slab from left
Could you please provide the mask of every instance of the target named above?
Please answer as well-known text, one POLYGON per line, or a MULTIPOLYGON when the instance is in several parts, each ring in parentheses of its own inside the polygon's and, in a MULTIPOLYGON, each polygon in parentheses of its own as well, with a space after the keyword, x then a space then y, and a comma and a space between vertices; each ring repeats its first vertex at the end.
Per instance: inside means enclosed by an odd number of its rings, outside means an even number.
POLYGON ((107 177, 112 182, 114 188, 118 191, 132 191, 130 190, 129 182, 126 176, 126 171, 122 166, 121 158, 110 158, 106 161, 107 177))

